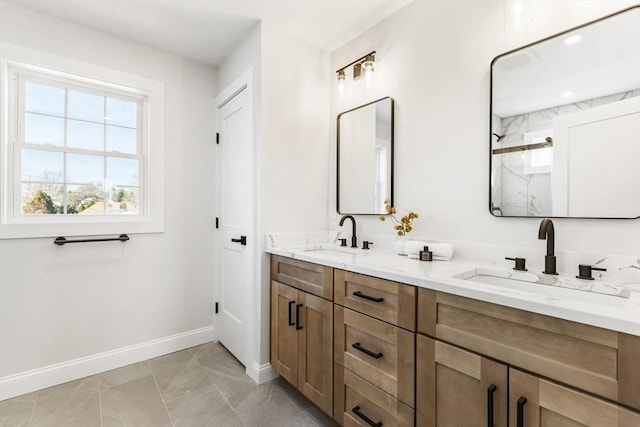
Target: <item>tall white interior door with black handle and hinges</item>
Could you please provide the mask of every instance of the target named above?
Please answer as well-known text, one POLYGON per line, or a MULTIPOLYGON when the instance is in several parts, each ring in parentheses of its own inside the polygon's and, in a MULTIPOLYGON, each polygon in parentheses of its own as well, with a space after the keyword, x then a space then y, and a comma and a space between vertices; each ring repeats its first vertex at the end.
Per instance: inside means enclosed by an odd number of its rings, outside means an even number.
POLYGON ((253 206, 253 128, 249 96, 243 89, 218 106, 219 218, 218 336, 248 366, 255 209, 253 206))

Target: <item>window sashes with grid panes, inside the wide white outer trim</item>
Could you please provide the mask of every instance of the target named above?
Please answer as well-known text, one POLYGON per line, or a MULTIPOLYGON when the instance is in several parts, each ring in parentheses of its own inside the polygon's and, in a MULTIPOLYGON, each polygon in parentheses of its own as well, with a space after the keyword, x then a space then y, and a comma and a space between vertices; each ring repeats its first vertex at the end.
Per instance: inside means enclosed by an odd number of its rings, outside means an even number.
POLYGON ((71 76, 14 81, 14 216, 140 215, 145 97, 71 76))

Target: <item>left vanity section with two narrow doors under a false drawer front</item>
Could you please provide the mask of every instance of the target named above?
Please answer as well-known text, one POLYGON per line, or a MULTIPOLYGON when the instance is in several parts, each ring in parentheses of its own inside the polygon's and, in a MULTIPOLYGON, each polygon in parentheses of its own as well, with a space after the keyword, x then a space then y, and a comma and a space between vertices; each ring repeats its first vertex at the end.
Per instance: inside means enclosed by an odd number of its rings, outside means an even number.
POLYGON ((333 415, 333 303, 322 297, 333 295, 333 269, 278 256, 271 260, 271 364, 333 415))

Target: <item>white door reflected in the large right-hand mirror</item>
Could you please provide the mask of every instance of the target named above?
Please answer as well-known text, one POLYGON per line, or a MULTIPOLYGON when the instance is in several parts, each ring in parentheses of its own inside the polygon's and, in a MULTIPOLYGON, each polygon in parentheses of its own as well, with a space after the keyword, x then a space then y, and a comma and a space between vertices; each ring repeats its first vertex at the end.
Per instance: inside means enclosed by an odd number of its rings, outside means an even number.
POLYGON ((553 124, 554 216, 640 214, 640 98, 567 114, 553 124))

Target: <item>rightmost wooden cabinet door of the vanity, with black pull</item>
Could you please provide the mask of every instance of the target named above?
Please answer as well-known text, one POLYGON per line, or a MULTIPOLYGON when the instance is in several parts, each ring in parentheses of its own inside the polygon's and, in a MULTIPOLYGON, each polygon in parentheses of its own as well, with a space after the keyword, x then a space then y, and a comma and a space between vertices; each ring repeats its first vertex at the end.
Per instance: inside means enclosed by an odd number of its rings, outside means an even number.
POLYGON ((509 425, 637 427, 640 426, 640 413, 517 369, 510 369, 509 425))

